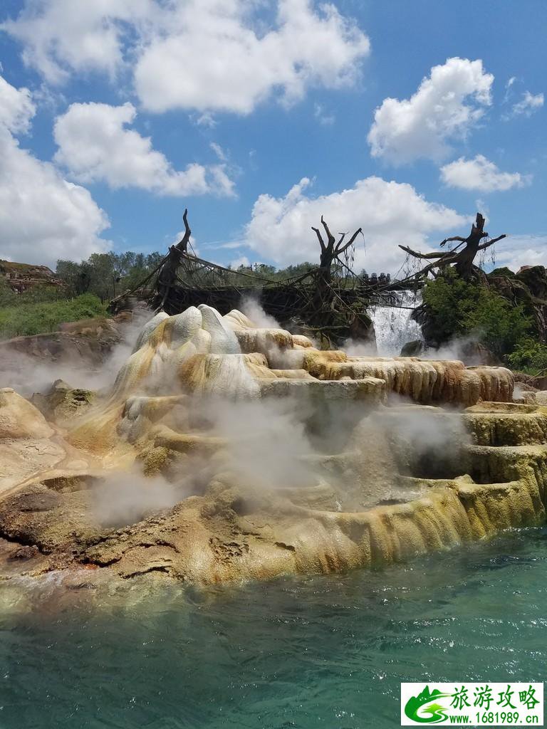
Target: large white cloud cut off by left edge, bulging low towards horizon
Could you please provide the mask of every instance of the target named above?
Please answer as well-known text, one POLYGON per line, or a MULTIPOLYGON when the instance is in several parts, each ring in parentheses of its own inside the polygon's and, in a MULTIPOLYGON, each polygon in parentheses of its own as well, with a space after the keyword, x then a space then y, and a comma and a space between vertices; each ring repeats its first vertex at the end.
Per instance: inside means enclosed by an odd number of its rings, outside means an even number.
POLYGON ((109 222, 88 190, 66 182, 13 136, 28 130, 33 116, 28 90, 0 77, 0 257, 54 267, 61 257, 104 251, 108 243, 98 236, 109 222))

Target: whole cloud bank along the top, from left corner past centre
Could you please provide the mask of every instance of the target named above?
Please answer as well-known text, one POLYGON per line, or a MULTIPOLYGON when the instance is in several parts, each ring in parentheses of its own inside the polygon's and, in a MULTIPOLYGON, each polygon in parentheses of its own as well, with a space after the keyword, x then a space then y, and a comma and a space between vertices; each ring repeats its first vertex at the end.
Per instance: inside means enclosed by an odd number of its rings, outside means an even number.
MULTIPOLYGON (((111 76, 128 61, 141 103, 155 112, 248 114, 265 98, 291 102, 310 85, 354 81, 368 37, 333 4, 276 0, 274 23, 249 0, 26 0, 1 26, 50 82, 71 72, 111 76), (260 30, 259 30, 260 28, 260 30)), ((201 119, 211 119, 202 116, 201 119)))

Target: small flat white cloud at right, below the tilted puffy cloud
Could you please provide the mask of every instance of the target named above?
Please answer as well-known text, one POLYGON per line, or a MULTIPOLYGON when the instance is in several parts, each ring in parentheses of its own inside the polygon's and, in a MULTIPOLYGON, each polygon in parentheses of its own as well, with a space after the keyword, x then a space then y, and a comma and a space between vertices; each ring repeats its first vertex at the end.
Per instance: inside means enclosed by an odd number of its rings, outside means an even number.
POLYGON ((449 187, 459 187, 460 190, 494 192, 524 187, 531 182, 531 176, 519 172, 502 172, 484 155, 476 155, 473 160, 459 157, 459 160, 441 167, 441 180, 449 187))

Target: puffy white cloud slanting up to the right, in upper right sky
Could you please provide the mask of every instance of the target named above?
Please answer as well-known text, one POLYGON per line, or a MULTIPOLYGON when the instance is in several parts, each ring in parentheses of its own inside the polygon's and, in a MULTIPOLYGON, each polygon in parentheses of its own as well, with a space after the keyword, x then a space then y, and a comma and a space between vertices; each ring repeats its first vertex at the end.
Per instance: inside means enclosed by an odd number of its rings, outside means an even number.
POLYGON ((491 104, 493 81, 481 60, 449 58, 433 66, 411 98, 386 98, 376 109, 368 133, 371 155, 393 164, 442 160, 448 141, 465 138, 491 104))

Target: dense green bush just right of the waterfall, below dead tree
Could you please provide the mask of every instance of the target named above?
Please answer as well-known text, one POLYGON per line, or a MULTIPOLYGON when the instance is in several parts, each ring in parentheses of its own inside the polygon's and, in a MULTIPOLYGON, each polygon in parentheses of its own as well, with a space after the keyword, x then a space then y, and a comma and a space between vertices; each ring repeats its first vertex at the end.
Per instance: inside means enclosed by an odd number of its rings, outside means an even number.
POLYGON ((473 335, 500 357, 510 354, 532 328, 521 304, 511 304, 486 285, 464 281, 453 268, 427 281, 424 304, 439 342, 473 335))

